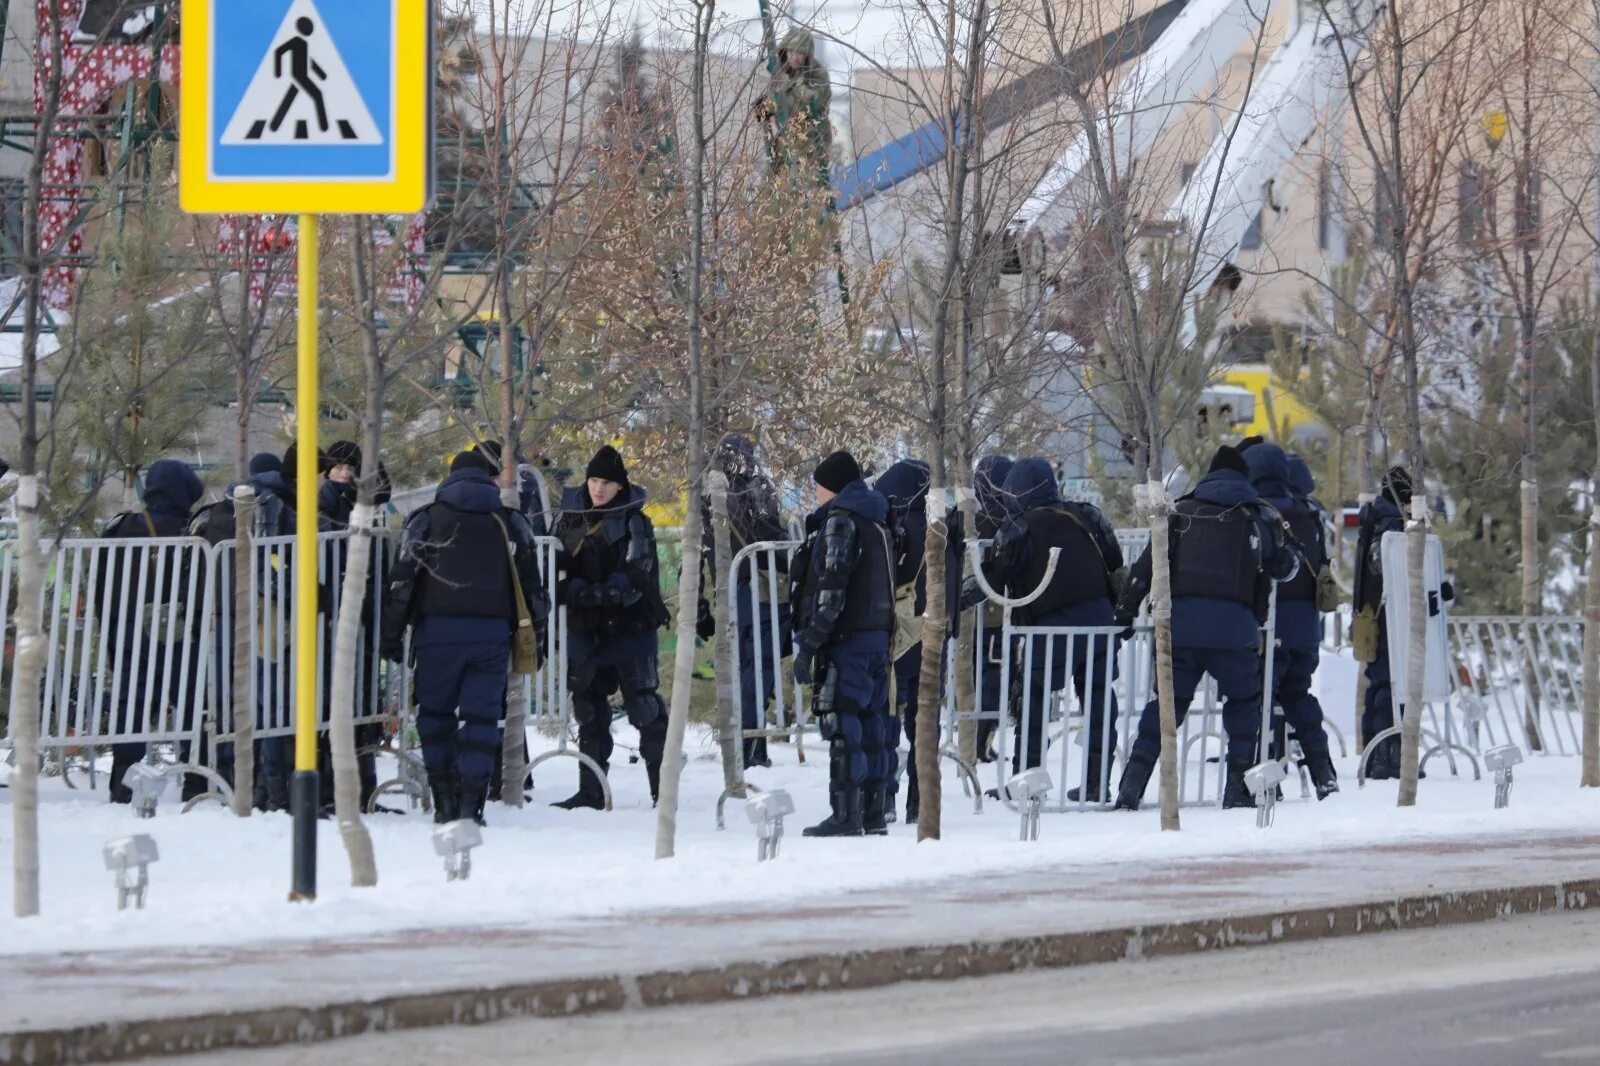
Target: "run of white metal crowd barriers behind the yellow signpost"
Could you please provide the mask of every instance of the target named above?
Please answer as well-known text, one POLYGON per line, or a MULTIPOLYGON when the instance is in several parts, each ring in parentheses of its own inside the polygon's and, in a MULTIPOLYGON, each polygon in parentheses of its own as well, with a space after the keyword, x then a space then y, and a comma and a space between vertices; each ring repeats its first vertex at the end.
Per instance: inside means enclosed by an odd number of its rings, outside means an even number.
MULTIPOLYGON (((315 658, 317 728, 325 731, 331 703, 334 619, 344 595, 349 531, 317 538, 317 642, 296 647, 293 573, 294 538, 251 544, 245 706, 254 707, 254 738, 294 733, 294 667, 315 658)), ((234 555, 235 544, 210 546, 192 538, 70 539, 46 546, 40 619, 46 658, 40 682, 40 747, 72 751, 109 744, 178 743, 186 762, 216 767, 219 743, 234 736, 234 555)), ((405 722, 411 715, 410 669, 378 653, 382 591, 397 557, 394 536, 379 531, 371 554, 368 595, 357 661, 355 725, 405 722)), ((528 719, 550 725, 560 747, 538 762, 574 755, 566 749, 566 621, 554 605, 558 543, 539 538, 538 562, 552 597, 544 659, 536 677, 512 688, 526 701, 528 719)), ((0 544, 0 706, 14 701, 16 674, 14 543, 0 544)), ((6 744, 14 715, 8 714, 6 744)), ((397 730, 405 755, 405 735, 397 730)), ((538 765, 538 762, 534 765, 538 765)), ((531 770, 531 767, 530 767, 531 770)))

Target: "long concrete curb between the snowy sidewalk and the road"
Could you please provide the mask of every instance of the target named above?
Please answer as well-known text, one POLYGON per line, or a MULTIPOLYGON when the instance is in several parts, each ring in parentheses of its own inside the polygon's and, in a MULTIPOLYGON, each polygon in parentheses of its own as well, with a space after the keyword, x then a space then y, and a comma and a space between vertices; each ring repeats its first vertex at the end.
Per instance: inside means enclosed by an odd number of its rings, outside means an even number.
POLYGON ((0 1034, 0 1066, 114 1063, 150 1055, 310 1044, 365 1032, 480 1024, 506 1018, 558 1018, 842 988, 882 988, 901 981, 949 981, 1330 936, 1466 925, 1590 908, 1600 908, 1600 879, 1440 892, 1304 911, 1045 933, 984 943, 878 948, 781 962, 739 962, 634 976, 422 992, 323 1007, 101 1023, 0 1034))

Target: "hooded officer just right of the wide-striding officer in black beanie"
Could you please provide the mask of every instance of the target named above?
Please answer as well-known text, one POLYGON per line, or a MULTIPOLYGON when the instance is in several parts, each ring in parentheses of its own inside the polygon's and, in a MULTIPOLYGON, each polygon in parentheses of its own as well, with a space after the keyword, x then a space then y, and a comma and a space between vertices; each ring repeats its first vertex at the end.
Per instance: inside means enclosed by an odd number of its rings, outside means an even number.
POLYGON ((1283 707, 1283 719, 1294 728, 1306 770, 1317 799, 1339 791, 1339 778, 1328 754, 1328 733, 1322 725, 1322 704, 1312 695, 1312 679, 1322 663, 1322 611, 1317 586, 1328 567, 1328 536, 1322 509, 1310 498, 1315 485, 1304 461, 1296 463, 1274 443, 1259 443, 1245 453, 1250 480, 1261 498, 1288 523, 1301 554, 1293 579, 1278 586, 1277 648, 1272 655, 1272 691, 1283 707))

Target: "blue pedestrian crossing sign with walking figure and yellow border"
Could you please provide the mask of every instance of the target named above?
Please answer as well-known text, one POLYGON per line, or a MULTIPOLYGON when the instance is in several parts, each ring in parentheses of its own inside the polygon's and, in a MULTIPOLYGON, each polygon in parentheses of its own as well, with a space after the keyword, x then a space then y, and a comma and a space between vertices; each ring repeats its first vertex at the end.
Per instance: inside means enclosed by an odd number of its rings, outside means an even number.
POLYGON ((197 214, 410 214, 432 186, 432 0, 182 0, 197 214))

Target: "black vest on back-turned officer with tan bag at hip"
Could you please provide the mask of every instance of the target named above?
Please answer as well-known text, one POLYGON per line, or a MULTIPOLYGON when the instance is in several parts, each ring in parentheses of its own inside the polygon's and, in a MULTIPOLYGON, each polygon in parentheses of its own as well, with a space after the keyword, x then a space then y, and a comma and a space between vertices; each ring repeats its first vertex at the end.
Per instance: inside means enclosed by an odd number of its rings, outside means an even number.
POLYGON ((515 618, 510 546, 494 515, 432 504, 427 520, 427 565, 418 568, 418 613, 515 618))

